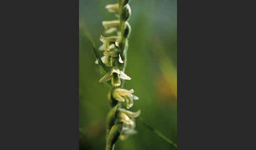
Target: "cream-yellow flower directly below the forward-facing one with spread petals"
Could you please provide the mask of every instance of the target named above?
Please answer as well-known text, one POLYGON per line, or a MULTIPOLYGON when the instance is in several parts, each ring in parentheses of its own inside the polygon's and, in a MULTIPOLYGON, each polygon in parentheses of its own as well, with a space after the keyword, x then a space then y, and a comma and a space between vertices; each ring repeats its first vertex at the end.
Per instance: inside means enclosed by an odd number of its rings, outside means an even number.
POLYGON ((125 102, 126 108, 130 109, 133 106, 133 100, 139 100, 139 98, 133 95, 133 93, 133 89, 114 89, 112 92, 112 97, 117 101, 125 102))

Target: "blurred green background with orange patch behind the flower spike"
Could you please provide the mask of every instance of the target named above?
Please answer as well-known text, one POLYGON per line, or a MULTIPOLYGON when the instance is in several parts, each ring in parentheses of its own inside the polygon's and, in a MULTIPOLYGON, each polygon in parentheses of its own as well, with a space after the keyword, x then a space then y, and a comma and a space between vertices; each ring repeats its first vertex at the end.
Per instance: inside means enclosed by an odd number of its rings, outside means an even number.
MULTIPOLYGON (((117 0, 80 0, 80 31, 85 25, 99 47, 104 35, 103 20, 117 19, 105 6, 117 0)), ((132 80, 125 89, 139 97, 131 111, 141 110, 141 118, 177 143, 177 1, 130 0, 132 32, 125 73, 132 80)), ((99 83, 99 67, 85 35, 79 45, 79 126, 80 149, 105 149, 105 118, 110 107, 109 89, 99 83)), ((103 56, 103 52, 98 52, 103 56)), ((175 149, 136 121, 137 134, 117 141, 115 149, 175 149)))

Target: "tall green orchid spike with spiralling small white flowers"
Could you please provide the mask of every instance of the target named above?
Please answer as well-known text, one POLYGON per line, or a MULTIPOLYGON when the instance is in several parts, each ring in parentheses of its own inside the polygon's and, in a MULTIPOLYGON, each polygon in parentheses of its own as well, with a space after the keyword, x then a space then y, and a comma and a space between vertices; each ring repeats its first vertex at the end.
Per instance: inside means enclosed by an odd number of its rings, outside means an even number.
MULTIPOLYGON (((99 50, 104 51, 104 56, 101 57, 102 62, 110 70, 99 82, 111 83, 111 90, 108 94, 108 101, 111 106, 110 112, 106 117, 106 149, 114 150, 114 145, 117 139, 121 140, 127 136, 135 134, 135 118, 138 117, 141 111, 131 112, 133 100, 139 100, 133 95, 134 90, 126 90, 117 88, 123 80, 131 80, 131 77, 124 73, 126 67, 126 56, 128 49, 128 38, 131 33, 131 26, 127 20, 131 17, 131 7, 128 4, 129 0, 118 0, 117 4, 106 5, 106 9, 111 13, 116 13, 117 20, 103 21, 102 25, 105 28, 105 34, 116 34, 116 36, 100 37, 103 44, 99 50), (121 108, 124 102, 126 109, 121 108)), ((97 60, 95 63, 99 63, 97 60)), ((123 85, 122 85, 123 87, 123 85)))

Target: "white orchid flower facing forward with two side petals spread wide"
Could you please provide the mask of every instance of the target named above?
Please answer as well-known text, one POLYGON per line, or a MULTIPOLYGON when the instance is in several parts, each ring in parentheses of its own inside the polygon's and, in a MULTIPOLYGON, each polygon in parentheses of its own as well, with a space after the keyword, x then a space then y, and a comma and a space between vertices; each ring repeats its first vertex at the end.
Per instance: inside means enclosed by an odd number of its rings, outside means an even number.
POLYGON ((131 80, 131 78, 127 76, 123 71, 120 71, 119 69, 112 69, 110 72, 107 72, 99 82, 106 82, 111 80, 111 84, 114 87, 118 87, 121 85, 120 79, 131 80))

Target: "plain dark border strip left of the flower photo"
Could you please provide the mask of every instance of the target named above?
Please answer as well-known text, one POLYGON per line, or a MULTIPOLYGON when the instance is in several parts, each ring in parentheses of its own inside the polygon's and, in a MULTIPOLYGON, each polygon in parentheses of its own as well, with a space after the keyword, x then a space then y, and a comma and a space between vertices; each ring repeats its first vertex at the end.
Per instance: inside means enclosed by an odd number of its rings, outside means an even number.
POLYGON ((0 149, 78 149, 79 1, 3 3, 0 149))

